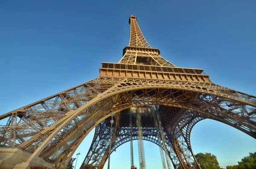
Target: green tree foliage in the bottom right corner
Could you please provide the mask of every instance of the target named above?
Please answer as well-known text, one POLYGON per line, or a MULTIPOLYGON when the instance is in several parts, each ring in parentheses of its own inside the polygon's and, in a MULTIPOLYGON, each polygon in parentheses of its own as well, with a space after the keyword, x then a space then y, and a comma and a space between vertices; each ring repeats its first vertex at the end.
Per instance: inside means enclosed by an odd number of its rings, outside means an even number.
POLYGON ((256 169, 256 152, 249 153, 238 162, 238 165, 227 166, 227 169, 256 169))

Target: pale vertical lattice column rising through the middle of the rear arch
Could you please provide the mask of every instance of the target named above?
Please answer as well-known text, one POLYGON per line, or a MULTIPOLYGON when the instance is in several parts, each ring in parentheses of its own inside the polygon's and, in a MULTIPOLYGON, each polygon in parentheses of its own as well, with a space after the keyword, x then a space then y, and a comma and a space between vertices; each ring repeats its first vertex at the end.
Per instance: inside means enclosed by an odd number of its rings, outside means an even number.
POLYGON ((143 144, 143 135, 142 135, 142 125, 141 125, 141 116, 137 112, 136 118, 137 128, 138 128, 138 149, 139 149, 139 162, 140 162, 140 169, 146 169, 145 164, 145 152, 144 152, 144 144, 143 144))

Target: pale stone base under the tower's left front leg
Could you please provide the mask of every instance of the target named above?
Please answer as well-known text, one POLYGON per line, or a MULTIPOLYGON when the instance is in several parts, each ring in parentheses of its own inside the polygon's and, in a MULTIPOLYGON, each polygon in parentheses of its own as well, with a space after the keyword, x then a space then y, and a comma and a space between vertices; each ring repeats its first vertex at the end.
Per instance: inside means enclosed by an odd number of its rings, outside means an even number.
MULTIPOLYGON (((26 160, 28 160, 31 155, 32 153, 26 152, 20 148, 0 147, 0 169, 30 169, 29 163, 26 163, 26 160)), ((54 164, 48 163, 39 157, 31 163, 31 166, 54 168, 54 164)))

